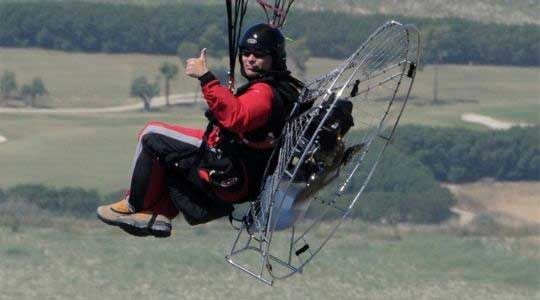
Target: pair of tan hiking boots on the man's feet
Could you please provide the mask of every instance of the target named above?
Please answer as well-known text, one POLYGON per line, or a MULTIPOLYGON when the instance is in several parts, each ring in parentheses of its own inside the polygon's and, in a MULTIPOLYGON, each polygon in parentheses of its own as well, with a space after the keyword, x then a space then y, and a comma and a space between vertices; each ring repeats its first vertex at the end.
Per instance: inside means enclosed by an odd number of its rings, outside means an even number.
POLYGON ((126 199, 98 207, 97 217, 104 223, 118 226, 134 236, 168 237, 171 235, 169 218, 150 211, 132 212, 126 199))

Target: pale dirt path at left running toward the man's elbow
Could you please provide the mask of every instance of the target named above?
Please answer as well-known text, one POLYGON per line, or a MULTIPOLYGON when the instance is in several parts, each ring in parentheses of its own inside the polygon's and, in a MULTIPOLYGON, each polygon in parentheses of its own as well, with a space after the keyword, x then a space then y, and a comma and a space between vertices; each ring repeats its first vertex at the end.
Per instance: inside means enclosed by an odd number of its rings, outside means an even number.
MULTIPOLYGON (((194 102, 196 94, 176 94, 169 96, 169 102, 175 104, 190 104, 194 102)), ((197 95, 200 97, 200 94, 197 95)), ((197 101, 201 101, 197 99, 197 101)), ((165 106, 165 97, 155 97, 152 99, 152 107, 165 106)), ((126 111, 142 110, 143 104, 135 103, 122 106, 100 107, 100 108, 10 108, 0 107, 0 114, 94 114, 94 113, 116 113, 126 111)))

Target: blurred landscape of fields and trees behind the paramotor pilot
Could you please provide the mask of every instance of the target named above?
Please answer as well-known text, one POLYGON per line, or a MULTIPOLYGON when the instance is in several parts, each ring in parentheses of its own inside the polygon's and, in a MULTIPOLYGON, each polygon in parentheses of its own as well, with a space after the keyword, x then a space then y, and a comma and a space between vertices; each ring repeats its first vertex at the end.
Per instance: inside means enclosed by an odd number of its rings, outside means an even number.
MULTIPOLYGON (((208 48, 225 82, 225 1, 0 0, 1 298, 540 298, 540 1, 297 0, 288 65, 316 78, 391 19, 423 43, 395 140, 304 274, 268 288, 223 259, 225 220, 157 240, 95 218, 147 121, 205 127, 184 61, 208 48)), ((252 1, 244 24, 264 20, 252 1)))

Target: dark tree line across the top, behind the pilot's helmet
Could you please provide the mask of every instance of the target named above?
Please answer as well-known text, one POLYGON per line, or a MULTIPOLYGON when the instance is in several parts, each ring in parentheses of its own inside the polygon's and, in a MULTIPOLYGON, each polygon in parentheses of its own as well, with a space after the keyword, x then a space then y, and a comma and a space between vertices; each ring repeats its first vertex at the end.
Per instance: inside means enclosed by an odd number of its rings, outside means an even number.
MULTIPOLYGON (((301 43, 311 55, 344 58, 388 19, 418 26, 425 63, 540 65, 536 25, 293 10, 285 33, 290 44, 301 43)), ((261 20, 248 13, 245 24, 261 20)), ((225 24, 224 7, 214 5, 0 3, 0 46, 183 57, 204 46, 223 56, 225 24)))

